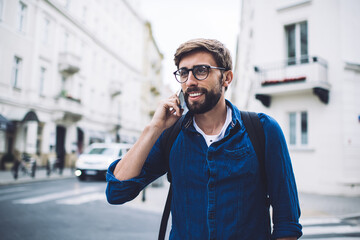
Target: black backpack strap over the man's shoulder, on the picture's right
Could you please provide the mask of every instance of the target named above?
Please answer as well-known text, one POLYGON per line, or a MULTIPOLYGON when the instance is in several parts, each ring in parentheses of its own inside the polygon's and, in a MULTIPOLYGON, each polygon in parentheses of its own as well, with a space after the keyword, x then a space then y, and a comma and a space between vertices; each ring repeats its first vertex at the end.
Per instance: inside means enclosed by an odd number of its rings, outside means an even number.
POLYGON ((241 119, 249 134, 251 144, 254 147, 256 156, 259 160, 260 175, 267 191, 266 170, 265 170, 265 133, 260 122, 259 116, 255 112, 241 111, 241 119))

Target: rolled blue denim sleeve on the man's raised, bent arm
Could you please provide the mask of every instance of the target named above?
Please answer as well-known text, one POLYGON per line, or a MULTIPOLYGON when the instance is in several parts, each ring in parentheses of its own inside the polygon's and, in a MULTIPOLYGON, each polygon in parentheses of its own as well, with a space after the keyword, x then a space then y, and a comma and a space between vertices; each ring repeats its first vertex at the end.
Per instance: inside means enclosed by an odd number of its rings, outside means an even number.
POLYGON ((160 136, 151 149, 139 176, 119 181, 114 176, 114 169, 121 160, 118 159, 109 166, 106 173, 106 198, 110 204, 123 204, 133 200, 148 184, 167 172, 161 151, 161 139, 160 136))

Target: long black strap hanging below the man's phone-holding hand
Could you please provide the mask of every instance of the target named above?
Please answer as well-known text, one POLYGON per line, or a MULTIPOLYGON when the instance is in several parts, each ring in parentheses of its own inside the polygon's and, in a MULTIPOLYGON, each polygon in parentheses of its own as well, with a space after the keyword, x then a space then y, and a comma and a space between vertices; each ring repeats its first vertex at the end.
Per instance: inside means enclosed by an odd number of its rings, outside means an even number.
POLYGON ((170 158, 170 151, 172 148, 172 145, 174 144, 177 136, 180 133, 181 130, 181 123, 184 120, 185 115, 181 116, 181 118, 170 128, 166 129, 163 136, 163 149, 164 149, 164 157, 166 160, 168 173, 167 173, 167 179, 170 182, 169 192, 168 196, 166 198, 166 203, 163 211, 163 215, 161 217, 161 224, 160 224, 160 230, 159 230, 159 240, 165 239, 166 234, 166 228, 169 221, 170 216, 170 210, 171 210, 171 198, 172 198, 172 185, 171 185, 171 172, 170 172, 170 166, 169 166, 169 158, 170 158))

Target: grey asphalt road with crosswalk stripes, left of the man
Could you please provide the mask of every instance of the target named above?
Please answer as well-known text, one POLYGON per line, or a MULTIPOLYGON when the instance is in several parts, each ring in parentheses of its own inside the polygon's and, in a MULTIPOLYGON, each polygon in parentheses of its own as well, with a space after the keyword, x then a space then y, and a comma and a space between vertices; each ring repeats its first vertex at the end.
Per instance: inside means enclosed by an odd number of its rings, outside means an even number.
POLYGON ((156 239, 161 214, 109 205, 105 187, 76 179, 3 186, 1 239, 156 239))

